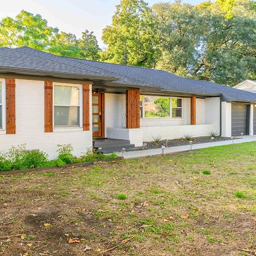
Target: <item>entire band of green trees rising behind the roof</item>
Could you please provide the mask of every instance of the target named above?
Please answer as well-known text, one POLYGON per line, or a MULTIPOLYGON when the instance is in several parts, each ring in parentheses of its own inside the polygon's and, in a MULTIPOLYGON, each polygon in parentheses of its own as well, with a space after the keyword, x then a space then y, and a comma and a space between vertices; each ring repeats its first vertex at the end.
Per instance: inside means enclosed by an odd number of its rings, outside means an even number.
POLYGON ((0 22, 0 46, 29 46, 63 56, 164 69, 184 77, 233 86, 256 79, 256 3, 205 1, 199 5, 121 0, 103 30, 106 49, 93 32, 81 38, 21 11, 0 22))

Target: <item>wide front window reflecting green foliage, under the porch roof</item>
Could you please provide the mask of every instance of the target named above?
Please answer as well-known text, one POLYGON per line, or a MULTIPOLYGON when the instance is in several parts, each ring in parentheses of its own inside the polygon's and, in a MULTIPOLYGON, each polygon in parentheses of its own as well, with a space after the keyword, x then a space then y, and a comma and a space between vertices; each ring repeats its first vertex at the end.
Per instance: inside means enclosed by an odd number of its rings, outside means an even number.
POLYGON ((141 118, 181 118, 182 98, 141 96, 141 118))

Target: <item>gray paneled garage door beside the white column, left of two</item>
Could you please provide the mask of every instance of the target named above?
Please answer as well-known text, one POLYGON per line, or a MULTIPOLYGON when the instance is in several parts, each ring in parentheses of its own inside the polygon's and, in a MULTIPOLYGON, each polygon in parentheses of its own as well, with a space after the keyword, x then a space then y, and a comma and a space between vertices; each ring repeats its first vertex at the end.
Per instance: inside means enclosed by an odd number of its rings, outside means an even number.
POLYGON ((232 104, 232 136, 246 134, 247 105, 232 104))

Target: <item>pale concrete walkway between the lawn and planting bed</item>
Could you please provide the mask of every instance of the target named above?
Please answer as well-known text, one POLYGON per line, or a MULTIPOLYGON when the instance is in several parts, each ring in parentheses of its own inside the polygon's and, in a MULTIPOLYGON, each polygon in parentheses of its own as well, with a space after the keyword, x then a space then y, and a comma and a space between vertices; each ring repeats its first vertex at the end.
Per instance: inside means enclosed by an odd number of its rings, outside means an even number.
MULTIPOLYGON (((256 141, 256 135, 254 136, 244 136, 243 138, 234 139, 234 144, 243 143, 243 142, 253 142, 256 141)), ((205 147, 215 147, 215 146, 222 146, 232 144, 233 141, 216 141, 216 142, 208 142, 208 143, 200 143, 200 144, 193 144, 192 150, 197 150, 199 148, 205 147)), ((166 147, 164 148, 164 154, 174 153, 174 152, 182 152, 190 150, 190 145, 185 146, 176 146, 176 147, 166 147)), ((117 155, 123 156, 125 159, 129 158, 142 158, 143 156, 150 156, 150 155, 160 155, 162 154, 162 148, 154 148, 150 150, 138 150, 138 151, 128 151, 128 152, 118 152, 117 155)))

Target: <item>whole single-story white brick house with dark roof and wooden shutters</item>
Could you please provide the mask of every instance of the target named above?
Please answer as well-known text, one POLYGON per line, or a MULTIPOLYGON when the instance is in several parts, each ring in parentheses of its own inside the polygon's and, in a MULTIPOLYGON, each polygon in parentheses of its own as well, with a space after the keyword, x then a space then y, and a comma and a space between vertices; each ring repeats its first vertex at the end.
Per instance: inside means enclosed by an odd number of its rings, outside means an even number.
POLYGON ((253 135, 255 103, 254 93, 166 71, 0 48, 0 151, 26 143, 55 158, 57 144, 79 156, 93 138, 253 135))

